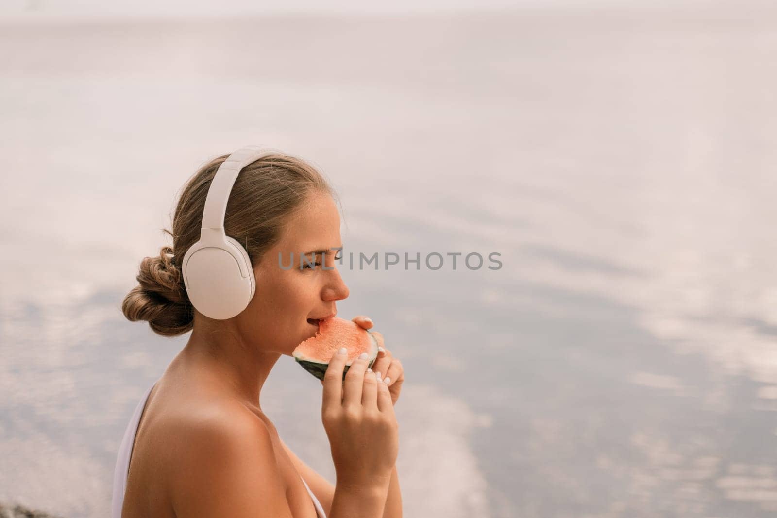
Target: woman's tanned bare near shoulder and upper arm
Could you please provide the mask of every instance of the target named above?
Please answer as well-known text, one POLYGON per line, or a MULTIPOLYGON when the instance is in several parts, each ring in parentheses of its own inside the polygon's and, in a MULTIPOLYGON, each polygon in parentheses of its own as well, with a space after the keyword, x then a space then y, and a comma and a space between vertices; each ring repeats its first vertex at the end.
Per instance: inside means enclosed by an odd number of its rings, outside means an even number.
POLYGON ((267 425, 239 402, 219 402, 176 426, 171 500, 176 516, 291 518, 267 425))

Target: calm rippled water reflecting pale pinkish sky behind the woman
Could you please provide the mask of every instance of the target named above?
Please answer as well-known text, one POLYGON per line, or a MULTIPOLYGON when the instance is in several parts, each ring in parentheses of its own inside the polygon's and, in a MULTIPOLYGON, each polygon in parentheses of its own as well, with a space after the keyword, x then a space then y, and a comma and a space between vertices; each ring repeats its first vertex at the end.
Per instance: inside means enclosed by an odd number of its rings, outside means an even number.
MULTIPOLYGON (((683 7, 683 5, 685 7, 683 7)), ((406 370, 405 516, 777 513, 777 10, 0 22, 0 501, 108 516, 188 335, 120 304, 207 159, 268 144, 340 192, 344 269, 406 370)), ((334 480, 320 385, 262 396, 334 480)))

